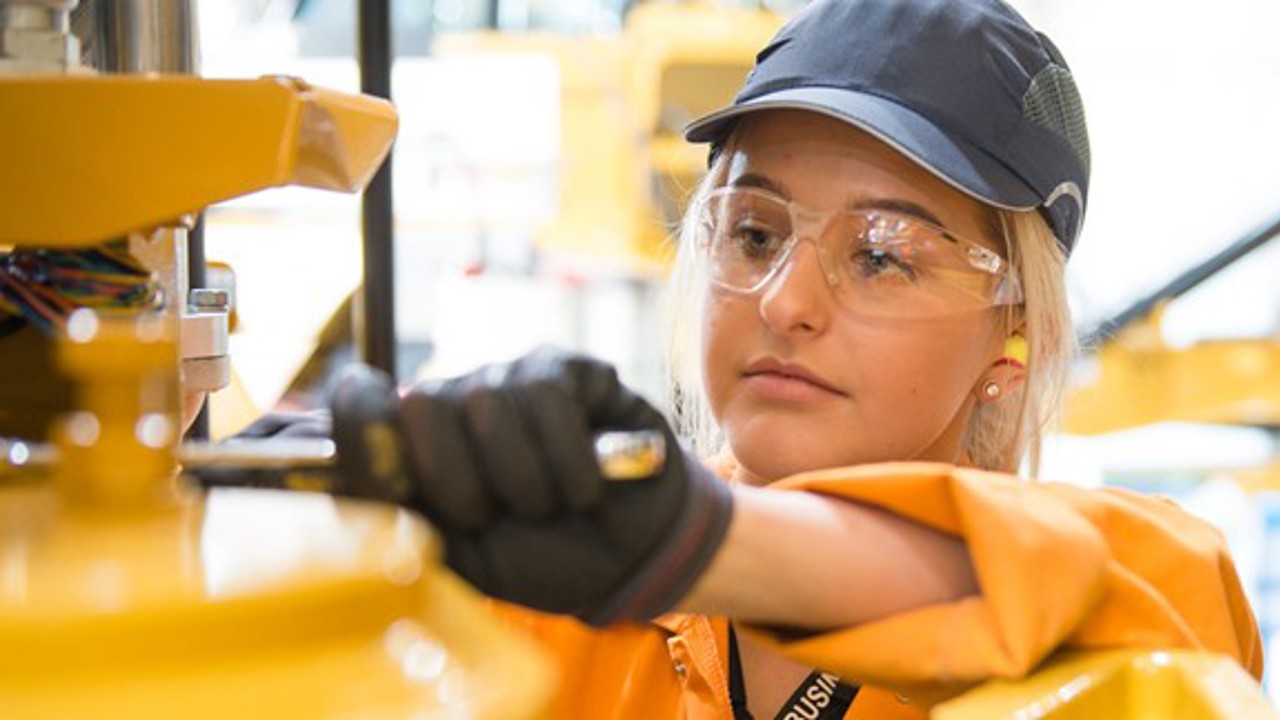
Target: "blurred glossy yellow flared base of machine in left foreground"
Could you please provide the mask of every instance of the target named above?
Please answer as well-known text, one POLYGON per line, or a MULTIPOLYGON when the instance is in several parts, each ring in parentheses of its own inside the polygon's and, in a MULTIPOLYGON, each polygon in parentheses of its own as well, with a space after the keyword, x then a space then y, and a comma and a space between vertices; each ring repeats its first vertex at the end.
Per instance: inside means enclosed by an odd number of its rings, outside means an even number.
POLYGON ((549 673, 393 507, 269 491, 59 510, 0 489, 5 720, 530 717, 549 673))

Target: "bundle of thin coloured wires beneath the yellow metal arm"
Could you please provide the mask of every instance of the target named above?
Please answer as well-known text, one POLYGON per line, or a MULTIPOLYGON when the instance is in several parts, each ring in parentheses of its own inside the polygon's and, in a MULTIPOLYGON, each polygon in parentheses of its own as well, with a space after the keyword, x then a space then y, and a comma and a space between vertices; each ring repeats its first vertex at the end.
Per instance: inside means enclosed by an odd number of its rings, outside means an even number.
POLYGON ((151 272, 123 242, 88 250, 0 252, 0 336, 24 323, 44 332, 61 331, 81 307, 129 313, 157 301, 151 272))

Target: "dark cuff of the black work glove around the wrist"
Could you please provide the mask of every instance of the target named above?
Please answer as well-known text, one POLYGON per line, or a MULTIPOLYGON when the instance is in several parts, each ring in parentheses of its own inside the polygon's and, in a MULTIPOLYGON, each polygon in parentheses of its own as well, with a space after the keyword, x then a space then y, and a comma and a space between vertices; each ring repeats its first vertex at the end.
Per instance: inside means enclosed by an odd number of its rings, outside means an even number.
POLYGON ((685 597, 719 550, 733 515, 732 491, 696 459, 680 455, 689 492, 675 524, 604 602, 575 614, 584 623, 603 628, 662 615, 685 597))

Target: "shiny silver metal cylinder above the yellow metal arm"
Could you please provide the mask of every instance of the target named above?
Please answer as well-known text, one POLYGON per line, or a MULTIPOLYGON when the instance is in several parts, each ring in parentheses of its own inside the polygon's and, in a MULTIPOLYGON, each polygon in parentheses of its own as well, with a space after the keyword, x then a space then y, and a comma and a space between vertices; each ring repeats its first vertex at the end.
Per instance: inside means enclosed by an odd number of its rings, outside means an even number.
POLYGON ((196 74, 196 0, 110 0, 95 6, 93 46, 104 73, 196 74))

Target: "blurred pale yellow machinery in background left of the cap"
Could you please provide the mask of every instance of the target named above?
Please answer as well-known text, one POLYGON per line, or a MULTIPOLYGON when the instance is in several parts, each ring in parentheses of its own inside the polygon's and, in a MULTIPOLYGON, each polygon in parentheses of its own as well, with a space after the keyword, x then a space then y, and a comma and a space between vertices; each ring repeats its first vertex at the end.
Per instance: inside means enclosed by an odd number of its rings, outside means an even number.
POLYGON ((614 37, 442 36, 439 55, 540 54, 559 73, 559 205, 539 251, 658 277, 684 199, 707 167, 681 128, 726 105, 781 27, 764 9, 639 3, 614 37))

